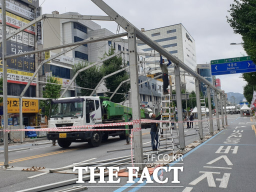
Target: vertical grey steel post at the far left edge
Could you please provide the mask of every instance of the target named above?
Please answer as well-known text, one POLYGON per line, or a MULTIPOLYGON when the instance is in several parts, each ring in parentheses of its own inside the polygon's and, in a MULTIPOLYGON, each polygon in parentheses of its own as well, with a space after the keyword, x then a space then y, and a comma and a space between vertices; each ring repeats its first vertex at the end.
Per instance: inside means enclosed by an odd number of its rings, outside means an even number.
POLYGON ((2 0, 2 90, 3 90, 3 150, 4 167, 9 166, 8 162, 8 109, 7 109, 7 61, 6 61, 6 11, 5 0, 2 0))

